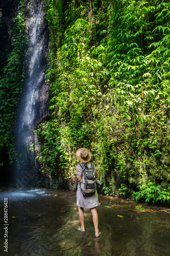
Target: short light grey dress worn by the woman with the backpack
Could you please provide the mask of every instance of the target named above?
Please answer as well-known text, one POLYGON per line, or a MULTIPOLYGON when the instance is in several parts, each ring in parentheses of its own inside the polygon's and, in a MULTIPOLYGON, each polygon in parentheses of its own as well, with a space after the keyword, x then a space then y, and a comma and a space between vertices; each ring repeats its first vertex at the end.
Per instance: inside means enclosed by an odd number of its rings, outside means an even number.
MULTIPOLYGON (((87 166, 90 167, 90 162, 87 163, 87 166)), ((94 166, 94 172, 96 172, 95 165, 94 166)), ((82 167, 80 164, 77 166, 77 175, 82 176, 82 167)), ((96 206, 99 206, 99 199, 98 199, 98 192, 95 190, 95 194, 92 196, 84 196, 82 194, 81 188, 80 188, 80 181, 78 183, 77 187, 77 193, 76 193, 76 198, 77 198, 77 205, 80 206, 81 208, 94 208, 96 206)))

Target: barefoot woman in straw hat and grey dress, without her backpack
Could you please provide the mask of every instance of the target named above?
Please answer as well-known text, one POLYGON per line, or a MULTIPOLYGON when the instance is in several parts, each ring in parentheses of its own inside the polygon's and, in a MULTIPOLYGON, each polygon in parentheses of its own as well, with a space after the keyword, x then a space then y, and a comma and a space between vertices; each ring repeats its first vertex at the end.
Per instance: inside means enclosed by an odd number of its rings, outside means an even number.
MULTIPOLYGON (((84 164, 84 168, 90 167, 91 163, 89 162, 91 159, 91 154, 87 148, 79 148, 79 150, 76 152, 76 157, 84 164)), ((98 178, 98 173, 96 172, 95 166, 93 164, 94 172, 95 172, 95 178, 98 178)), ((92 220, 94 224, 94 230, 95 230, 95 237, 99 237, 101 232, 99 232, 98 227, 98 212, 96 210, 96 206, 99 206, 99 200, 98 200, 98 193, 95 190, 95 194, 92 196, 84 196, 82 194, 81 188, 80 188, 80 181, 82 179, 82 171, 83 168, 80 164, 76 166, 76 172, 77 172, 77 179, 79 181, 78 188, 77 188, 77 205, 79 206, 79 219, 82 232, 85 231, 84 228, 84 208, 90 208, 92 213, 92 220)))

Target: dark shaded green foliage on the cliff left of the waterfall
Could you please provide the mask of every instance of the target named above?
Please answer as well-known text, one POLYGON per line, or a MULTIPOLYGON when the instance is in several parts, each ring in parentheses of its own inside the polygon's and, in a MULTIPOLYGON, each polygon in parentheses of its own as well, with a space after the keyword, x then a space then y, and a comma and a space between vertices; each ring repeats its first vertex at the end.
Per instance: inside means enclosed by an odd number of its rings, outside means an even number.
MULTIPOLYGON (((0 152, 10 147, 11 130, 24 78, 23 56, 27 45, 22 11, 13 19, 11 47, 0 80, 0 152)), ((10 160, 11 161, 11 160, 10 160)))

